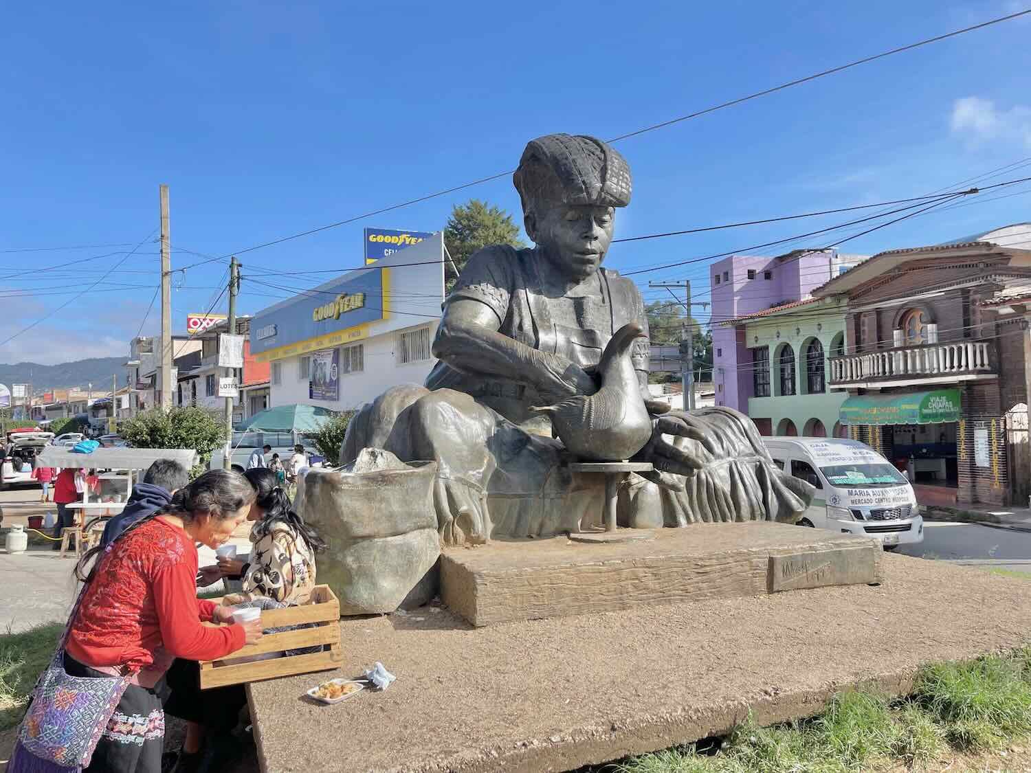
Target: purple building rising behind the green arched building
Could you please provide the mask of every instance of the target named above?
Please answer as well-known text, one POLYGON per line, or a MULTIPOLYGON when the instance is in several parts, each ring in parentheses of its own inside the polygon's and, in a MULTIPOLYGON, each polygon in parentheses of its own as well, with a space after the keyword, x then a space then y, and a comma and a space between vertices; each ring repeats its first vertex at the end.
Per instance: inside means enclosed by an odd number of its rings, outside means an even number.
POLYGON ((709 266, 712 297, 712 380, 716 404, 749 412, 752 357, 744 329, 718 323, 798 301, 868 256, 796 249, 776 258, 732 255, 709 266))

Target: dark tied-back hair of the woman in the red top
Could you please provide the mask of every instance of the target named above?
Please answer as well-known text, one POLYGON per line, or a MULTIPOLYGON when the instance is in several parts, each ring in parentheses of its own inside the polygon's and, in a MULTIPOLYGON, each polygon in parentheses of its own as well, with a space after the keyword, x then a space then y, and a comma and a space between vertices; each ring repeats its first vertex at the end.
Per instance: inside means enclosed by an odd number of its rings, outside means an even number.
POLYGON ((158 515, 177 515, 185 524, 191 523, 198 515, 208 515, 223 520, 254 501, 255 488, 243 475, 232 470, 208 470, 189 485, 175 492, 166 507, 132 524, 106 547, 97 545, 87 550, 75 565, 75 576, 82 582, 90 582, 100 563, 98 559, 87 573, 86 567, 90 566, 91 561, 104 550, 115 549, 114 546, 124 540, 127 534, 158 515))

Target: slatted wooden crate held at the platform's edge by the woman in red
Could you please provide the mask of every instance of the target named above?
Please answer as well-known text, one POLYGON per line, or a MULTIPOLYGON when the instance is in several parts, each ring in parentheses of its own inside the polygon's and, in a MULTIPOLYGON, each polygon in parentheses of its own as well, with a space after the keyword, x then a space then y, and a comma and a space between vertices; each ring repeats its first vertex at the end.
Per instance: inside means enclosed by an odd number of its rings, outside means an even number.
MULTIPOLYGON (((219 604, 221 599, 211 599, 211 601, 219 604)), ((262 627, 266 629, 297 626, 302 623, 314 623, 315 627, 266 634, 257 644, 247 644, 222 661, 201 661, 201 690, 274 679, 293 674, 306 674, 312 671, 328 671, 339 667, 343 661, 343 654, 340 651, 340 602, 329 585, 315 585, 311 593, 311 600, 307 604, 263 611, 261 623, 262 627), (322 652, 285 656, 256 663, 233 664, 225 662, 266 652, 300 649, 315 644, 328 644, 329 648, 322 652)))

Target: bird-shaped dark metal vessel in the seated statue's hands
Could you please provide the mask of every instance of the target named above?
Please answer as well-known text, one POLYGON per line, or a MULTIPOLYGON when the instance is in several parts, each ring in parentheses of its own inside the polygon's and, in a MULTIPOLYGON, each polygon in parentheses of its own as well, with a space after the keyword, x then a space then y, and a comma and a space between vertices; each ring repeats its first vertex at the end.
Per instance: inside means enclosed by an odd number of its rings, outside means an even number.
POLYGON ((652 419, 630 360, 634 339, 643 335, 644 329, 637 323, 616 331, 598 363, 601 386, 595 394, 575 395, 555 405, 530 409, 551 414, 562 442, 579 459, 630 459, 652 437, 652 419))

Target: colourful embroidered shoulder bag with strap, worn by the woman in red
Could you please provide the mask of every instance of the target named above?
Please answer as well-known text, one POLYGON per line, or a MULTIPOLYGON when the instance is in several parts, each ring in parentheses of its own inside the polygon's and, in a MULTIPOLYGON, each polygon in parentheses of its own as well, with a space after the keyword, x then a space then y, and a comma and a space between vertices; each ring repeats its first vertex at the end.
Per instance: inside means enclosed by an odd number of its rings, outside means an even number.
POLYGON ((21 749, 15 749, 8 773, 52 770, 49 766, 72 770, 89 767, 93 750, 129 686, 131 673, 92 677, 65 671, 65 642, 85 594, 84 587, 54 660, 32 692, 32 703, 18 731, 21 749), (26 759, 24 752, 36 759, 26 759))

